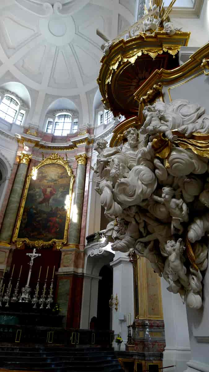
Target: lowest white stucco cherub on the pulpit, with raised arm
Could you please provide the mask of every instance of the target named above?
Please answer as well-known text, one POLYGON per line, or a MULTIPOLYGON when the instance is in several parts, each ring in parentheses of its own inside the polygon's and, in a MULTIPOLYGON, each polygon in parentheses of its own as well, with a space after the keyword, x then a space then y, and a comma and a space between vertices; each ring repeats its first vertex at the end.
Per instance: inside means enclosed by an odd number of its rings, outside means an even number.
MULTIPOLYGON (((168 262, 171 274, 176 275, 184 288, 189 287, 189 279, 186 275, 186 267, 183 264, 183 251, 185 247, 182 244, 182 239, 179 238, 177 243, 174 240, 168 240, 165 245, 165 251, 168 254, 168 262)), ((166 265, 165 265, 166 266, 166 265)))

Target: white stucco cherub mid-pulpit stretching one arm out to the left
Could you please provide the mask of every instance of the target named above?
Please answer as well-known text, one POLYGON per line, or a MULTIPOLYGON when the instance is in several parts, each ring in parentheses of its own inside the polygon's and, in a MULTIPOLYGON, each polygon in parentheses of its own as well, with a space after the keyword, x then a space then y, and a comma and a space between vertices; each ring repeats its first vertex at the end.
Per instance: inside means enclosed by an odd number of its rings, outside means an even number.
POLYGON ((189 221, 188 208, 183 199, 173 198, 174 193, 175 191, 173 187, 166 186, 162 189, 162 198, 159 198, 153 194, 151 198, 156 202, 164 204, 167 210, 170 212, 172 217, 171 234, 174 234, 174 228, 177 229, 178 234, 182 234, 184 228, 181 225, 181 222, 189 221))

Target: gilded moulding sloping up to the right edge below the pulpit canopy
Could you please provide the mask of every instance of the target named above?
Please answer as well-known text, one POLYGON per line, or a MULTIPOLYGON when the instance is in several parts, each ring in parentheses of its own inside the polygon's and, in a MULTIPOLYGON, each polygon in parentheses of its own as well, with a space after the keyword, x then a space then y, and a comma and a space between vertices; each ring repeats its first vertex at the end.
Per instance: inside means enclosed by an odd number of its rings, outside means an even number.
POLYGON ((203 60, 209 57, 209 42, 203 45, 202 48, 198 49, 195 53, 190 56, 190 59, 185 62, 183 65, 174 68, 173 70, 155 70, 144 84, 136 90, 134 97, 140 102, 142 96, 145 96, 149 89, 152 89, 154 84, 162 83, 163 85, 168 85, 180 80, 185 79, 188 76, 196 73, 198 70, 204 70, 203 60))

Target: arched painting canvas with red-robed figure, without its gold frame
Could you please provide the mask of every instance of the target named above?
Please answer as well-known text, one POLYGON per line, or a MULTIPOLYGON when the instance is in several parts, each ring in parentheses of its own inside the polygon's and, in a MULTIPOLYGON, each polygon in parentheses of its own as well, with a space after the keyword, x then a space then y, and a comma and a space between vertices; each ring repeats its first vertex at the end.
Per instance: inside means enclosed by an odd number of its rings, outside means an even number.
POLYGON ((30 241, 63 239, 69 200, 70 177, 60 164, 40 167, 30 179, 17 238, 30 241))

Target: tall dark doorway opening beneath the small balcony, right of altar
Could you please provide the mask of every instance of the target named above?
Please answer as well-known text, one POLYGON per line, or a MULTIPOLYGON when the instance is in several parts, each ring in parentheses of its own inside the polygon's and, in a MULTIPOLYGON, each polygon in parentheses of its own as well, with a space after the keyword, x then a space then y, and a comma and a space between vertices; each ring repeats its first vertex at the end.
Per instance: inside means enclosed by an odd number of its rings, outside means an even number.
POLYGON ((112 309, 109 307, 109 299, 113 288, 113 272, 111 267, 103 266, 99 272, 99 276, 102 276, 102 279, 99 280, 98 286, 97 327, 100 330, 109 330, 110 311, 112 312, 112 309))

